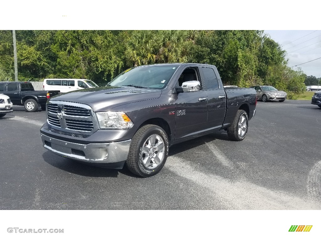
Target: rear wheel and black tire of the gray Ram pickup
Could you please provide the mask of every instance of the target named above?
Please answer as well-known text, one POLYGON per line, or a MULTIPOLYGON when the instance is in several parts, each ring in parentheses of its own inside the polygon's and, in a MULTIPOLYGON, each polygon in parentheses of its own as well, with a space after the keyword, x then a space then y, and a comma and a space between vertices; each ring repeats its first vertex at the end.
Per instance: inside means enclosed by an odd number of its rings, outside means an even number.
POLYGON ((248 116, 246 111, 244 110, 238 110, 236 113, 236 116, 234 118, 233 123, 229 126, 229 128, 227 129, 227 134, 230 138, 230 140, 234 140, 234 141, 242 141, 246 134, 247 134, 247 130, 248 130, 248 116), (246 125, 244 127, 243 125, 239 125, 241 119, 244 116, 244 120, 242 123, 244 123, 244 121, 246 121, 246 125), (244 131, 245 130, 245 131, 244 131), (240 133, 239 133, 240 131, 240 133))

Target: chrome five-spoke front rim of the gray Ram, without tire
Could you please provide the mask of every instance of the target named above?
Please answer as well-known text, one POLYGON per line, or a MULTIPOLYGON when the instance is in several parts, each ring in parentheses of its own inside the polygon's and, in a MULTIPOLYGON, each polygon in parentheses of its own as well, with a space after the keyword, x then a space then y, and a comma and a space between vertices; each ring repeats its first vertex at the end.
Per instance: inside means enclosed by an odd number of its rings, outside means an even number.
POLYGON ((143 144, 143 164, 148 169, 156 168, 164 160, 165 144, 159 135, 151 135, 143 144))

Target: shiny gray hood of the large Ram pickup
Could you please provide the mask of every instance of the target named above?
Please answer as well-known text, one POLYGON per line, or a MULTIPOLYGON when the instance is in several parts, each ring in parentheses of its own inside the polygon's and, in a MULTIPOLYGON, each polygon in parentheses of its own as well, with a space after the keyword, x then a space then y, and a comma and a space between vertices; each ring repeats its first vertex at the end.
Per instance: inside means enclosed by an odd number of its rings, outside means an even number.
POLYGON ((87 104, 94 112, 99 112, 127 103, 159 98, 161 93, 160 89, 110 86, 66 92, 52 97, 50 100, 87 104))

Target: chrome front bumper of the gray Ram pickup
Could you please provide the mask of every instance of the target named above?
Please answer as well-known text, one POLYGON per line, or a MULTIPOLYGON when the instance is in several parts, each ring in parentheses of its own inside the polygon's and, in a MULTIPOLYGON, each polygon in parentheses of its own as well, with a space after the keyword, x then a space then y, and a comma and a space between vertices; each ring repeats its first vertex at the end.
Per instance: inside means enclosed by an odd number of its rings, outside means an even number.
POLYGON ((117 163, 127 159, 131 140, 110 143, 78 144, 58 140, 41 133, 43 147, 51 152, 89 163, 117 163))

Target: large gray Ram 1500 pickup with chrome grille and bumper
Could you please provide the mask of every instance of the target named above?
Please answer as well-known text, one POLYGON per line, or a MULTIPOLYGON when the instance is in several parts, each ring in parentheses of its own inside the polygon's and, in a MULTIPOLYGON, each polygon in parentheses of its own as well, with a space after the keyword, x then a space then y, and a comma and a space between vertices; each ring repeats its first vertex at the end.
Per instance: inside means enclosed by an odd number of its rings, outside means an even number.
POLYGON ((153 64, 51 98, 40 134, 57 155, 149 177, 176 143, 222 129, 243 140, 255 108, 256 91, 224 89, 213 65, 153 64))

